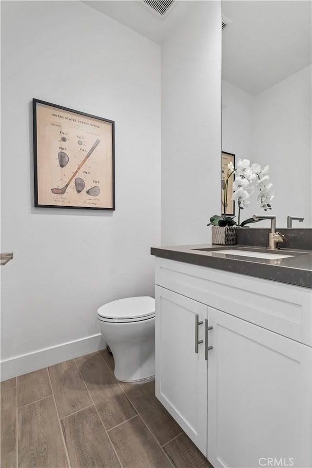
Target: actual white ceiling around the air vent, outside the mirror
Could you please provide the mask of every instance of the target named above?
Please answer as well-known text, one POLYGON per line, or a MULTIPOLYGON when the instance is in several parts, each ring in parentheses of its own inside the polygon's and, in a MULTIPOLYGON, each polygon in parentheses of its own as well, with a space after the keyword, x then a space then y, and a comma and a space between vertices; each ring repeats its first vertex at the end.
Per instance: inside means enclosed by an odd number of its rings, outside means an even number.
POLYGON ((168 13, 161 18, 142 0, 84 0, 83 3, 158 44, 171 34, 194 6, 192 0, 176 0, 168 13))

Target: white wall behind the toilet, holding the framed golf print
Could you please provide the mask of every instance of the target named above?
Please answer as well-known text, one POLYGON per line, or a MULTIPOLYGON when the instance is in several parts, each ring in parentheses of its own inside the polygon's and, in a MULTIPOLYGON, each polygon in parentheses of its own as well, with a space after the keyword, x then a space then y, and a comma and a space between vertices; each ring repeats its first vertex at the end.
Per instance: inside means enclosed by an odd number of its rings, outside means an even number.
MULTIPOLYGON (((8 360, 98 334, 100 305, 154 294, 160 47, 78 1, 4 1, 1 20, 1 252, 14 252, 1 272, 8 360), (115 120, 116 212, 33 208, 32 98, 115 120)), ((42 367, 36 356, 29 366, 42 367)), ((2 379, 20 372, 17 361, 2 379)))

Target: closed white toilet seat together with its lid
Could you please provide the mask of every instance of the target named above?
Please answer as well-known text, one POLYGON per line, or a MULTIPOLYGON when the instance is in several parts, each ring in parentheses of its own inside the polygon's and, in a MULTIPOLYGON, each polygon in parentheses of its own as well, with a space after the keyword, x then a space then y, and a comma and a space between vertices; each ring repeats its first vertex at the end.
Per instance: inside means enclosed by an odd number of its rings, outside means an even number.
POLYGON ((118 299, 98 309, 98 320, 101 322, 129 323, 152 318, 155 318, 155 299, 149 296, 118 299))

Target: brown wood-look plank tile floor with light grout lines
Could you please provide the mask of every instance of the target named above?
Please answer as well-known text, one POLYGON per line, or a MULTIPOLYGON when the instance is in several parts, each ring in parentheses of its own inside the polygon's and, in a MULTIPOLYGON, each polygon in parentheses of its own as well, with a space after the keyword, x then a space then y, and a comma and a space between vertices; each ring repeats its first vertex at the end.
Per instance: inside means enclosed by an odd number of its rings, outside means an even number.
POLYGON ((1 382, 0 468, 213 468, 101 350, 1 382))

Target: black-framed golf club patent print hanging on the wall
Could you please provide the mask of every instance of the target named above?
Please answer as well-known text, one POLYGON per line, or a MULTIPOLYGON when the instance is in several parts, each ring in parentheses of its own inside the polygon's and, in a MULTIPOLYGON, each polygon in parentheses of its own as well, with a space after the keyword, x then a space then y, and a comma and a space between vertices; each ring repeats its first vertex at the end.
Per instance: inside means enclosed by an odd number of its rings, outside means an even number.
POLYGON ((34 206, 115 211, 115 121, 36 98, 33 98, 32 104, 34 206), (70 133, 63 132, 64 128, 70 133), (59 132, 58 142, 56 142, 57 132, 59 132), (68 156, 63 151, 67 150, 69 145, 73 156, 68 156), (57 153, 56 148, 58 148, 57 153), (90 158, 91 161, 93 159, 91 164, 89 157, 92 154, 94 157, 90 158), (59 167, 56 168, 58 160, 59 167), (68 170, 65 169, 67 165, 69 165, 68 170), (88 165, 89 170, 84 170, 88 165), (76 177, 74 181, 74 177, 81 175, 82 170, 86 173, 85 180, 76 177), (59 174, 59 180, 58 176, 55 176, 55 182, 52 183, 51 173, 59 174), (51 187, 49 183, 45 183, 46 180, 50 182, 51 187), (64 181, 66 184, 62 187, 64 181), (73 182, 76 192, 73 189, 73 182), (77 194, 80 195, 82 192, 83 196, 79 198, 77 194))

